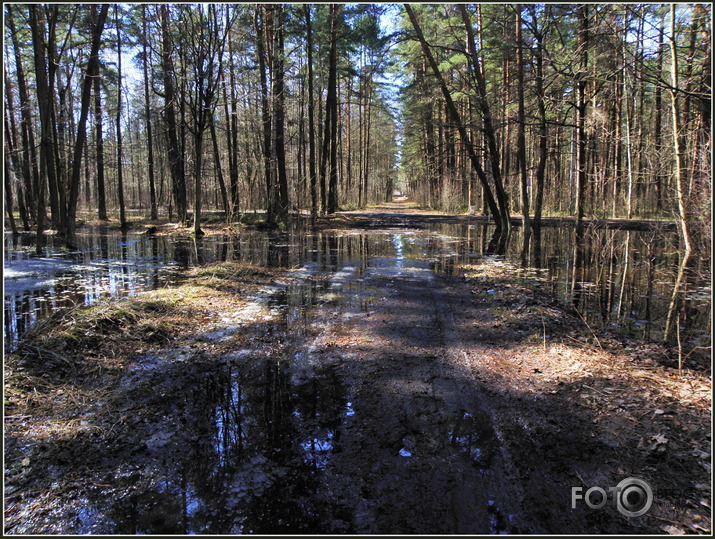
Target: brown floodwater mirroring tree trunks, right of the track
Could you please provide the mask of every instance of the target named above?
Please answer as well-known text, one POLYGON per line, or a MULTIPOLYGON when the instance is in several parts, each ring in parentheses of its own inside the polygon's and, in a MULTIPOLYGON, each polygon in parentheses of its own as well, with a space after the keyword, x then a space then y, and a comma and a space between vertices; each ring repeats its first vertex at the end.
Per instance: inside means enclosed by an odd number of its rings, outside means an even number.
MULTIPOLYGON (((471 228, 471 226, 470 226, 471 228)), ((483 252, 482 227, 467 230, 466 250, 483 252)), ((521 228, 513 231, 506 258, 517 261, 521 228)), ((593 327, 612 327, 646 339, 661 339, 670 297, 678 274, 678 236, 674 231, 626 231, 589 228, 584 233, 581 261, 574 261, 574 227, 542 227, 541 241, 532 238, 534 266, 563 303, 572 303, 593 327)), ((683 298, 688 313, 683 337, 692 344, 709 344, 711 288, 709 262, 692 272, 683 298), (696 278, 699 274, 700 277, 696 278)))

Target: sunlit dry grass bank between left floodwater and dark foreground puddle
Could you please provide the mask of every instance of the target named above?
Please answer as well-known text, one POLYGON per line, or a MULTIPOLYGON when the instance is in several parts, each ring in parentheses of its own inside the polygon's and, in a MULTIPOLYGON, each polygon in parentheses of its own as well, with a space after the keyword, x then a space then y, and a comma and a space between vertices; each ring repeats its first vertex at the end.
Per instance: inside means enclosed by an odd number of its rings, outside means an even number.
POLYGON ((273 278, 270 270, 222 262, 188 270, 172 288, 62 309, 38 322, 5 357, 5 412, 63 414, 101 392, 137 354, 190 336, 236 309, 241 293, 273 278), (55 397, 62 395, 60 401, 55 397), (59 406, 59 407, 58 407, 59 406))

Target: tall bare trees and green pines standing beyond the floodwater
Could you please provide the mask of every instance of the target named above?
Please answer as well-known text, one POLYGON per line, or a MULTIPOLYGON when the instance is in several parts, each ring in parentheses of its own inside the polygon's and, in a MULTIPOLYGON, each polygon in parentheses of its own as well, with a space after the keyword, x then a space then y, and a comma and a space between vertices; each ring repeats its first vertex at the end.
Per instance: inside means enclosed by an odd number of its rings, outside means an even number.
MULTIPOLYGON (((666 218, 709 252, 703 4, 5 5, 5 207, 267 221, 389 200, 666 218)), ((16 223, 15 221, 18 221, 16 223)))

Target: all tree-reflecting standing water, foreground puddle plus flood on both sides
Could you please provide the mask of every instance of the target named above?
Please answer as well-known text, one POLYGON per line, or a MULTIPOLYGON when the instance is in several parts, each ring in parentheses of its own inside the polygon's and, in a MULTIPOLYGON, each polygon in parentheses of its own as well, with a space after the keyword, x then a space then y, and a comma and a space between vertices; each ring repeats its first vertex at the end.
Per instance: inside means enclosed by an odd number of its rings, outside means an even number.
MULTIPOLYGON (((309 337, 311 313, 333 301, 352 302, 355 309, 349 312, 369 309, 375 293, 371 276, 420 281, 435 273, 452 274, 486 253, 487 228, 439 224, 429 231, 399 233, 252 231, 200 240, 97 231, 81 236, 82 247, 73 253, 55 248, 49 238, 45 257, 22 245, 8 248, 6 238, 6 342, 58 308, 164 286, 181 269, 201 263, 237 260, 311 277, 271 287, 267 303, 280 316, 262 329, 286 332, 295 340, 280 353, 248 348, 207 364, 180 362, 175 370, 141 372, 136 380, 150 387, 156 399, 142 405, 163 410, 162 398, 171 404, 156 424, 138 427, 146 429, 146 447, 132 453, 128 462, 133 468, 113 475, 114 491, 104 486, 88 500, 78 514, 78 531, 330 531, 320 529, 334 519, 330 501, 320 497, 320 485, 340 450, 342 429, 355 416, 360 419, 360 410, 353 408, 333 370, 310 364, 302 344, 309 337), (166 386, 168 397, 163 397, 162 384, 169 382, 173 385, 166 386), (141 488, 133 490, 135 484, 141 488)), ((521 255, 518 233, 506 255, 515 261, 521 255)), ((544 269, 523 271, 523 278, 540 278, 541 286, 562 299, 573 299, 578 288, 577 306, 589 323, 657 337, 678 269, 677 236, 588 230, 582 263, 574 264, 568 248, 573 233, 542 228, 538 266, 544 269)), ((688 290, 689 338, 709 340, 707 283, 688 290)), ((384 287, 378 292, 384 293, 384 287)), ((462 410, 447 430, 456 451, 475 466, 488 467, 497 440, 484 414, 462 410)), ((399 454, 415 458, 408 446, 399 454)))

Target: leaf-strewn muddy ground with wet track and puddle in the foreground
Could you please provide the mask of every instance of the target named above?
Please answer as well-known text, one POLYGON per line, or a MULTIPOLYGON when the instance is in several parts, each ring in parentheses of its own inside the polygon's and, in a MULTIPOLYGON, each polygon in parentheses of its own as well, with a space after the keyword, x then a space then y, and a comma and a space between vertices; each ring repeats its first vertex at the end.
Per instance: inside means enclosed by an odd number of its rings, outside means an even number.
POLYGON ((498 259, 393 262, 223 262, 42 323, 4 362, 4 531, 710 533, 709 369, 498 259), (644 515, 574 507, 629 477, 644 515))

